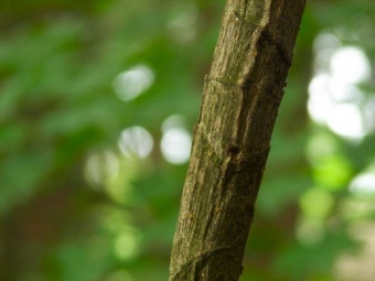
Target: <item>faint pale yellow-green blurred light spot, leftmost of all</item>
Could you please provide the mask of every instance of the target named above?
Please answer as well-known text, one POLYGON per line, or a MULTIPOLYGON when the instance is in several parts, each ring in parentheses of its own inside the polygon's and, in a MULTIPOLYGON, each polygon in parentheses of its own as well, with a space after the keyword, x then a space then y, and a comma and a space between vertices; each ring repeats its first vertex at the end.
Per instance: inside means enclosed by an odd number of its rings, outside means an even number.
POLYGON ((118 159, 108 150, 99 153, 93 153, 87 159, 85 176, 94 186, 101 185, 107 180, 114 179, 118 172, 118 159))

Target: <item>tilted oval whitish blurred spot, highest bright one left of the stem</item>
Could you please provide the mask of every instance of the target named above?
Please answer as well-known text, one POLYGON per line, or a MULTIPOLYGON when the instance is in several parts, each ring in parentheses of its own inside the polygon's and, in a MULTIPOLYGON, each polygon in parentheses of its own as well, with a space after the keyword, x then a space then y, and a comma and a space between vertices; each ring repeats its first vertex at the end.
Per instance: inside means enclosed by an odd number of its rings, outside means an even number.
POLYGON ((146 65, 137 65, 120 73, 114 80, 116 95, 124 101, 129 101, 144 93, 153 83, 153 72, 146 65))

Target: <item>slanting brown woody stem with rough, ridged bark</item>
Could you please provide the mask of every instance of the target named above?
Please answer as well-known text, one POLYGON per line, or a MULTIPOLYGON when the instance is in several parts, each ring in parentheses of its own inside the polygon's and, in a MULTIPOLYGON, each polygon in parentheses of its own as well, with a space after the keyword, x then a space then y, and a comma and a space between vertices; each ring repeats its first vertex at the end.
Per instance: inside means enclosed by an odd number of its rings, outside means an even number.
POLYGON ((228 0, 174 236, 170 281, 232 281, 242 260, 306 0, 228 0))

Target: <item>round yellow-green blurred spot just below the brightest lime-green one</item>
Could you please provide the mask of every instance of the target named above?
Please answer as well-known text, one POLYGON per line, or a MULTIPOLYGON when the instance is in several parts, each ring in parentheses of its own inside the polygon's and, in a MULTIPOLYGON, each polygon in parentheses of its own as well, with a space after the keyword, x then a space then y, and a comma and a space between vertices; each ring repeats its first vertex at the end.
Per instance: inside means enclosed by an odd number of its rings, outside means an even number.
POLYGON ((310 218, 325 218, 333 208, 333 198, 330 193, 322 188, 308 190, 300 199, 303 214, 310 218))

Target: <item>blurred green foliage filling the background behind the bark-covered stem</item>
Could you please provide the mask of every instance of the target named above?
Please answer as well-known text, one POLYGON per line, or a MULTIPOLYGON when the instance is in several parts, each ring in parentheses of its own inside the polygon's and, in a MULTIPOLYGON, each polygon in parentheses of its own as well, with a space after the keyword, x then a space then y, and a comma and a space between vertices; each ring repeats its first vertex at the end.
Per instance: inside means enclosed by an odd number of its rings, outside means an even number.
MULTIPOLYGON (((0 280, 168 279, 186 163, 160 143, 173 120, 193 131, 224 2, 0 2, 0 280)), ((374 175, 375 85, 358 85, 373 119, 355 141, 310 119, 308 85, 319 34, 374 62, 374 14, 308 3, 242 280, 354 280, 341 261, 374 228, 374 180, 355 183, 374 175)))

